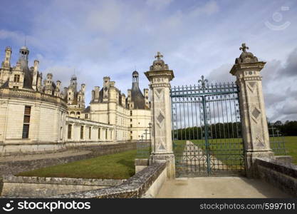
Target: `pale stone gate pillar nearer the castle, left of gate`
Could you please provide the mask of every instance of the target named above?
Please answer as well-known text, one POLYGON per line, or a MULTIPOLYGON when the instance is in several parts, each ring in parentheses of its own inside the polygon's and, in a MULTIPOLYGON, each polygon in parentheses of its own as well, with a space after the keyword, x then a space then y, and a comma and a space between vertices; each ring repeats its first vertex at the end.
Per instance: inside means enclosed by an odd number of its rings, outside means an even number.
POLYGON ((174 78, 172 70, 161 59, 160 52, 145 72, 150 81, 152 105, 152 153, 150 161, 167 161, 167 177, 175 178, 174 153, 172 151, 170 81, 174 78))

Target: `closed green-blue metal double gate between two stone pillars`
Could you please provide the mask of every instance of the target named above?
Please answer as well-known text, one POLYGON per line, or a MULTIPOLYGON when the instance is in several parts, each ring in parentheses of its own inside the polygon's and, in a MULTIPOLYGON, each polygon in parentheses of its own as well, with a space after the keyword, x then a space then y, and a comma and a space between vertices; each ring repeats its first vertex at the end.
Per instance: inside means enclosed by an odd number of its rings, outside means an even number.
POLYGON ((236 83, 177 86, 170 91, 177 177, 244 174, 236 83))

